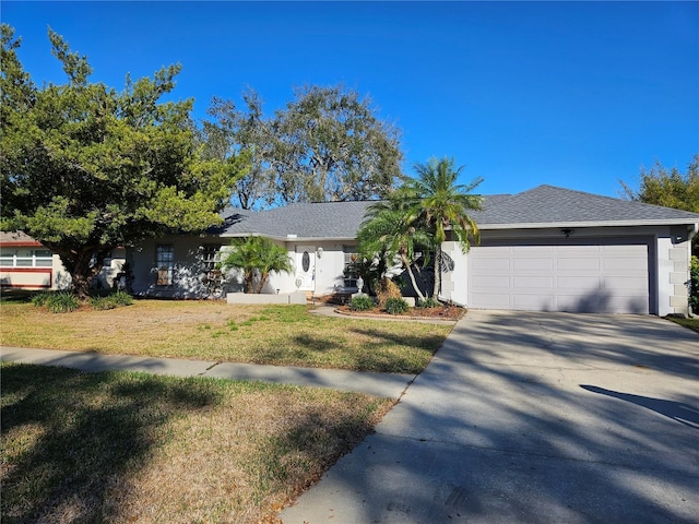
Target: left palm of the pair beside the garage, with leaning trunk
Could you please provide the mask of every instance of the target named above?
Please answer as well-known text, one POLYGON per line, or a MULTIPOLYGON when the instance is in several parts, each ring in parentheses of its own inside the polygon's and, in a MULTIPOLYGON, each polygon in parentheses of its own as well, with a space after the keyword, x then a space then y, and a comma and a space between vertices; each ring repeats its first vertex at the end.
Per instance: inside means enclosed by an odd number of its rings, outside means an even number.
POLYGON ((387 267, 393 266, 398 257, 407 271, 413 289, 424 300, 425 295, 415 281, 412 264, 416 248, 430 246, 431 238, 424 228, 416 227, 417 221, 418 214, 408 205, 405 194, 396 191, 389 200, 369 206, 357 240, 365 257, 382 257, 387 267))

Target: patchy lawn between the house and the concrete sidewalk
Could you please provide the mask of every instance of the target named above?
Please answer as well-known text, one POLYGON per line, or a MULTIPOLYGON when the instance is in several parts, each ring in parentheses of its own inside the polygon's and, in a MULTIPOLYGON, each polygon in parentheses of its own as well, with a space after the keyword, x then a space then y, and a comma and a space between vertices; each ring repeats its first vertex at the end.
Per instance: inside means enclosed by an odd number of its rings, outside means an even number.
POLYGON ((1 314, 7 346, 401 373, 422 371, 452 329, 193 300, 60 315, 7 301, 1 314))

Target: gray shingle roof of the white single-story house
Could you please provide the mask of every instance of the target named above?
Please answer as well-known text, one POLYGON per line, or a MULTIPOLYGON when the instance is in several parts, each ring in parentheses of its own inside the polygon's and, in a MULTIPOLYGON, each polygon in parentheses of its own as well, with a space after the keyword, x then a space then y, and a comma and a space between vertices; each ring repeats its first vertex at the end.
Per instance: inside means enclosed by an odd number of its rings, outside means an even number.
MULTIPOLYGON (((289 204, 266 211, 229 207, 222 236, 264 235, 286 239, 354 239, 372 202, 289 204), (291 237, 294 238, 294 237, 291 237)), ((517 194, 484 196, 473 218, 481 229, 680 225, 699 223, 699 214, 613 199, 553 186, 517 194)))

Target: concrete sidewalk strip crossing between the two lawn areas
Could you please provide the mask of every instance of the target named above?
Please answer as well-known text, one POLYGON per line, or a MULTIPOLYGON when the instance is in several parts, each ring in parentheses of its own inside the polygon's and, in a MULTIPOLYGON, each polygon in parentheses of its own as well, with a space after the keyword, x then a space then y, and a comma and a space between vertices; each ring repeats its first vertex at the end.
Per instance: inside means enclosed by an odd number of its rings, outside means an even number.
POLYGON ((141 371, 175 377, 257 380, 281 384, 331 388, 370 395, 400 398, 415 379, 413 374, 369 373, 337 369, 315 369, 253 364, 182 360, 176 358, 131 357, 97 353, 60 352, 0 347, 0 359, 42 366, 60 366, 86 372, 141 371))

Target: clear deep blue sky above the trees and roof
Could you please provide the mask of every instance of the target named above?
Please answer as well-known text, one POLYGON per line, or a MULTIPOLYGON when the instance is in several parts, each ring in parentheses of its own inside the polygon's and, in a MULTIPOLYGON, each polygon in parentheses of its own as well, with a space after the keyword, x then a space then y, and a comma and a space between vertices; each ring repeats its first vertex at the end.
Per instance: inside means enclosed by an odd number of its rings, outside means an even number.
POLYGON ((175 96, 343 83, 402 130, 404 169, 464 166, 478 192, 542 183, 611 196, 699 153, 699 2, 34 2, 0 17, 34 81, 62 82, 47 25, 122 88, 179 62, 175 96))

